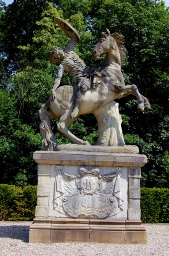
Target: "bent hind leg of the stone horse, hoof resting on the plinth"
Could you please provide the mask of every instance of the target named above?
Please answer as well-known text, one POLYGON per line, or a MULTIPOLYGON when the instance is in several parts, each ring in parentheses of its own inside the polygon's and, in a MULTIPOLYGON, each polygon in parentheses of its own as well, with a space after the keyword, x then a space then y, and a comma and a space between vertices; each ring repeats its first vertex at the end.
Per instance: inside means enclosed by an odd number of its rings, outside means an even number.
POLYGON ((70 111, 66 110, 64 114, 61 116, 59 123, 57 124, 57 130, 75 144, 90 145, 88 141, 80 140, 79 138, 77 138, 77 136, 75 136, 68 130, 67 127, 69 127, 74 121, 75 118, 72 118, 70 116, 70 111))

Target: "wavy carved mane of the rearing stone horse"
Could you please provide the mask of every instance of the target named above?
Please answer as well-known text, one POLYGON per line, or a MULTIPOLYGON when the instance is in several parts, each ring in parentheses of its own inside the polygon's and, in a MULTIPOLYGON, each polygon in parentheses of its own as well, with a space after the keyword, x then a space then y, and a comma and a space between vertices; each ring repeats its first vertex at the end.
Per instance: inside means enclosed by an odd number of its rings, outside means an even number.
POLYGON ((110 34, 110 31, 107 29, 107 33, 103 32, 101 33, 102 36, 106 36, 106 35, 110 35, 115 39, 115 42, 117 43, 118 49, 119 49, 119 53, 121 56, 121 67, 124 63, 125 60, 125 56, 126 54, 128 54, 128 51, 126 50, 126 48, 124 47, 123 43, 124 43, 124 36, 123 35, 119 35, 118 33, 113 33, 110 34))

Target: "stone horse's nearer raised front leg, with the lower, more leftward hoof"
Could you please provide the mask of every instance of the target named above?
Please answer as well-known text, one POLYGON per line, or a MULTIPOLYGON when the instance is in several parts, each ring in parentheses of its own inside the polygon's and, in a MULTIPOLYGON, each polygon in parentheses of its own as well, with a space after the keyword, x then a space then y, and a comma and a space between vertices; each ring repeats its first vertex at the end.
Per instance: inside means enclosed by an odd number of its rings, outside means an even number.
MULTIPOLYGON (((138 100, 138 106, 137 108, 140 111, 144 111, 144 100, 142 95, 140 94, 140 92, 138 91, 138 88, 136 87, 135 84, 131 84, 131 85, 126 85, 126 86, 117 86, 117 90, 119 90, 119 92, 121 93, 128 93, 128 94, 133 94, 135 95, 136 99, 138 100)), ((127 95, 128 95, 127 94, 127 95)), ((124 97, 124 96, 123 96, 124 97)), ((117 99, 121 99, 122 97, 118 97, 117 99)), ((146 98, 147 99, 147 98, 146 98)))

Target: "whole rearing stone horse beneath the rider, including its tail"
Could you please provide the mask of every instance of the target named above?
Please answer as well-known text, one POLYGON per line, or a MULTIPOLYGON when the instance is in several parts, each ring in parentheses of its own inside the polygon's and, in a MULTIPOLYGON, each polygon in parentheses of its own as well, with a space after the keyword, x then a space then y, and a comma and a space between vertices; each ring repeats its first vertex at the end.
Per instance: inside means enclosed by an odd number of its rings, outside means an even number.
MULTIPOLYGON (((87 90, 82 104, 79 106, 78 116, 93 113, 113 100, 121 99, 129 94, 136 96, 140 111, 143 111, 144 108, 151 108, 149 101, 138 92, 135 84, 127 86, 124 84, 121 67, 127 51, 122 45, 123 42, 124 36, 117 33, 110 34, 108 29, 107 33, 101 33, 101 38, 92 52, 94 60, 98 60, 99 56, 106 53, 105 61, 99 70, 102 77, 101 83, 94 90, 87 90)), ((89 145, 87 141, 80 140, 68 130, 68 127, 77 119, 71 117, 71 112, 74 109, 74 97, 72 86, 61 86, 56 91, 55 100, 48 100, 40 109, 43 150, 54 150, 58 145, 50 129, 50 122, 48 122, 55 118, 60 118, 57 130, 71 142, 89 145), (47 111, 48 107, 51 112, 47 111)))

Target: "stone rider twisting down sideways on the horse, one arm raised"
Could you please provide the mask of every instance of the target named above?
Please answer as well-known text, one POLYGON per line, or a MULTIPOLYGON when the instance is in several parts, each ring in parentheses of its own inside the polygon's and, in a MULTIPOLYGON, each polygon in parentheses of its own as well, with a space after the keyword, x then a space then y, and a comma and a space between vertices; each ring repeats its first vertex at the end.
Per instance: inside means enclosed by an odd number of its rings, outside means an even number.
MULTIPOLYGON (((61 26, 61 24, 59 24, 61 26)), ((63 26, 63 25, 62 25, 63 26)), ((65 28, 64 28, 65 30, 65 28)), ((59 59, 61 63, 59 65, 57 78, 54 81, 54 86, 50 95, 50 100, 55 100, 55 90, 61 83, 62 74, 64 71, 71 74, 73 80, 73 88, 78 88, 77 97, 75 98, 75 108, 71 113, 72 118, 76 118, 78 115, 78 106, 82 103, 85 92, 90 88, 95 88, 101 82, 101 74, 96 68, 86 67, 84 61, 82 61, 78 55, 73 52, 73 47, 77 42, 77 35, 71 37, 70 43, 66 47, 65 51, 62 51, 60 47, 55 47, 50 52, 50 62, 56 64, 59 59), (90 79, 91 78, 91 79, 90 79)))

